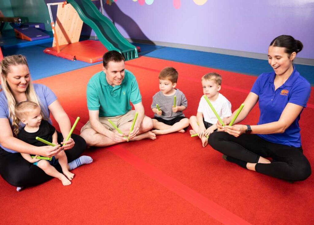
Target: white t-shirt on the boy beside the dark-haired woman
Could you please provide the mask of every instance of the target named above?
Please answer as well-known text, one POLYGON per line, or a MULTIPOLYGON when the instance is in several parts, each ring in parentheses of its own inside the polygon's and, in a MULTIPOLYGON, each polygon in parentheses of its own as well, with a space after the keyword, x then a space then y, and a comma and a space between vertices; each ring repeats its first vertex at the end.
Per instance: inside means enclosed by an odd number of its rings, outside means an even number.
MULTIPOLYGON (((230 117, 232 115, 231 103, 222 94, 219 93, 216 101, 214 102, 210 101, 210 103, 212 103, 214 109, 216 110, 216 112, 218 113, 221 119, 225 117, 230 117)), ((215 116, 213 110, 209 107, 208 103, 206 102, 203 96, 201 97, 201 100, 199 101, 197 111, 203 113, 203 117, 206 122, 211 123, 211 124, 217 123, 217 120, 218 120, 217 117, 215 116)))

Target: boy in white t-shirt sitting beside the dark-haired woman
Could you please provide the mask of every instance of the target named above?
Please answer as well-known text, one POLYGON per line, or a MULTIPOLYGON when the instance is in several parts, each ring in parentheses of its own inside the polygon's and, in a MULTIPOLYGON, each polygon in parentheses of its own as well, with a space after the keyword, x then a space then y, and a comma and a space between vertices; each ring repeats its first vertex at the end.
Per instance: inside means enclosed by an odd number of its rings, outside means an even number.
MULTIPOLYGON (((221 89, 220 85, 221 76, 217 73, 208 73, 202 77, 203 93, 208 97, 219 117, 223 119, 230 117, 232 112, 231 103, 225 96, 219 93, 221 89)), ((203 147, 205 147, 208 144, 206 136, 209 136, 217 129, 216 123, 217 117, 202 96, 196 116, 190 117, 190 124, 193 128, 193 130, 190 130, 190 134, 197 133, 198 137, 202 140, 203 147)))

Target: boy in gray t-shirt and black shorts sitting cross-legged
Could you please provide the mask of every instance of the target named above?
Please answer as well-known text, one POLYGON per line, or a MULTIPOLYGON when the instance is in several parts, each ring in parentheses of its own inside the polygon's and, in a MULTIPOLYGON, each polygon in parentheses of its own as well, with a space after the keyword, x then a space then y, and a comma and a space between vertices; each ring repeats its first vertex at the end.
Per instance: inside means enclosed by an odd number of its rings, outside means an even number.
POLYGON ((155 134, 172 132, 185 132, 189 126, 189 119, 184 117, 183 110, 187 108, 187 98, 179 90, 175 89, 178 80, 178 72, 173 67, 164 68, 159 74, 159 89, 153 96, 151 109, 153 110, 153 130, 155 134), (176 106, 174 97, 176 96, 176 106), (160 110, 158 110, 157 105, 160 110))

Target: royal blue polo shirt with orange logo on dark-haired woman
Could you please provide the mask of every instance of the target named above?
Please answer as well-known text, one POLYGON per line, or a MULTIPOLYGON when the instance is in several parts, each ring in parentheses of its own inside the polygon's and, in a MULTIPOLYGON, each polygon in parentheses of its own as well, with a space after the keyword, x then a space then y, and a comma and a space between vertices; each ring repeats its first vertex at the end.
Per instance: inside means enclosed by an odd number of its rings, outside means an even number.
MULTIPOLYGON (((259 97, 260 117, 259 124, 278 121, 287 103, 306 107, 310 97, 311 85, 300 73, 293 68, 293 72, 286 82, 275 91, 275 72, 263 73, 255 81, 251 92, 259 97)), ((303 111, 303 110, 302 110, 303 111)), ((300 147, 301 135, 299 120, 300 115, 293 121, 284 133, 257 134, 259 137, 273 143, 300 147)))

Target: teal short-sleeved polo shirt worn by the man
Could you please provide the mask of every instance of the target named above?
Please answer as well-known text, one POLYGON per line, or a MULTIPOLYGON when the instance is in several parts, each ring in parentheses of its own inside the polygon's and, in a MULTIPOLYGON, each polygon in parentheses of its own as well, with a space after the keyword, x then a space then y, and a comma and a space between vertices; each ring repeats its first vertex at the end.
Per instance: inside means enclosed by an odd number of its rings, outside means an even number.
POLYGON ((114 87, 103 71, 96 73, 87 84, 86 97, 88 110, 99 110, 99 117, 124 115, 132 108, 130 101, 133 105, 142 102, 135 76, 128 70, 121 85, 114 87))

